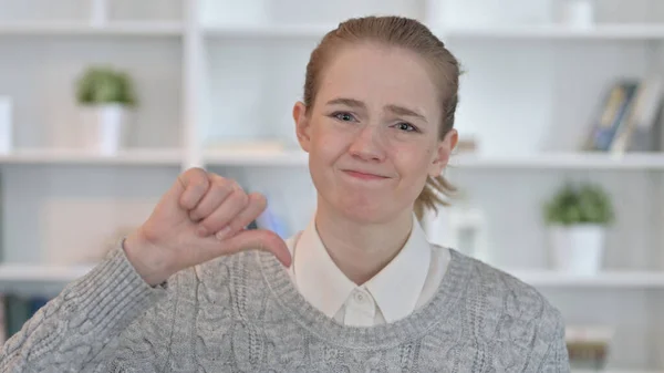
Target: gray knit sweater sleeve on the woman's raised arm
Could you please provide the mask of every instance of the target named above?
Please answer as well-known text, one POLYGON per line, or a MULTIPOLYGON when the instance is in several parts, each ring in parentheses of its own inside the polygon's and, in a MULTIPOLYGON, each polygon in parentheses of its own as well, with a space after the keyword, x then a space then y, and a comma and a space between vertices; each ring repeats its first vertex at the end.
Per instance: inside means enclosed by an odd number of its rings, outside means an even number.
POLYGON ((145 282, 120 244, 4 343, 0 373, 97 371, 108 364, 121 333, 167 298, 166 287, 145 282))

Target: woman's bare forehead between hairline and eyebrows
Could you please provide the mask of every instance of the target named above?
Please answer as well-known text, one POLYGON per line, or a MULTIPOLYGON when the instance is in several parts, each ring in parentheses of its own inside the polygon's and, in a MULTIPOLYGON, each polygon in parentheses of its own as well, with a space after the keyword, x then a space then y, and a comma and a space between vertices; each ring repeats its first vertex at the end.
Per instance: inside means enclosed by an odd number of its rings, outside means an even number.
POLYGON ((324 68, 318 96, 352 97, 369 106, 398 104, 436 115, 438 93, 428 68, 422 56, 401 48, 340 48, 324 68))

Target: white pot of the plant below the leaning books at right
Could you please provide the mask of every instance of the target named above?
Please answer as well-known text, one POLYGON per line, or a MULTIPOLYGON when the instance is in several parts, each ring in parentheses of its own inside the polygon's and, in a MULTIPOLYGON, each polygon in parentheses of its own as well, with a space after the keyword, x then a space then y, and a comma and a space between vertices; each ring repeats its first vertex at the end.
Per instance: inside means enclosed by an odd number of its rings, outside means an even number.
POLYGON ((602 225, 551 226, 553 269, 574 274, 596 273, 602 266, 605 231, 602 225))

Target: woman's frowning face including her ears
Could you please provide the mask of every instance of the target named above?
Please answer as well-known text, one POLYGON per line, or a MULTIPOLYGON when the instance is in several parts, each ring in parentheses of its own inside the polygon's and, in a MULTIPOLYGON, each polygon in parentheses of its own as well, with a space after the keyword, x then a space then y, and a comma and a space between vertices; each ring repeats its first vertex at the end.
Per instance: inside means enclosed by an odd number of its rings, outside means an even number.
POLYGON ((427 176, 437 176, 456 145, 438 139, 438 92, 425 61, 397 48, 362 44, 335 51, 315 103, 293 117, 319 193, 319 208, 361 222, 412 214, 427 176))

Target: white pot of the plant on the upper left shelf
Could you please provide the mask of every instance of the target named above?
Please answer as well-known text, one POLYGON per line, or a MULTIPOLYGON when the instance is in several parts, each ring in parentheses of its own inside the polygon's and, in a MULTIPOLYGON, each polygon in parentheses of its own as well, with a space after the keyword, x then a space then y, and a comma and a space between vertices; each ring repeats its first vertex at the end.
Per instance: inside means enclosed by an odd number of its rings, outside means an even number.
POLYGON ((129 112, 120 104, 81 107, 81 141, 86 151, 115 155, 126 145, 129 112))

